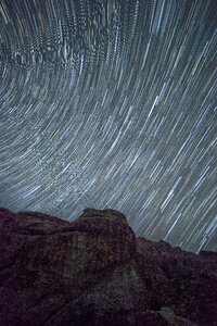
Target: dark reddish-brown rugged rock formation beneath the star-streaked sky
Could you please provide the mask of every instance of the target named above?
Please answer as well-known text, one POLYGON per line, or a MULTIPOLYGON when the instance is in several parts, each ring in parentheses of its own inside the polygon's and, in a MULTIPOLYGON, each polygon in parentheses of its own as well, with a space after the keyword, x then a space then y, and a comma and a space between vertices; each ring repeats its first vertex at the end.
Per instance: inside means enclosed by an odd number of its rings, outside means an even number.
POLYGON ((114 210, 0 209, 0 325, 217 325, 217 253, 136 239, 114 210))

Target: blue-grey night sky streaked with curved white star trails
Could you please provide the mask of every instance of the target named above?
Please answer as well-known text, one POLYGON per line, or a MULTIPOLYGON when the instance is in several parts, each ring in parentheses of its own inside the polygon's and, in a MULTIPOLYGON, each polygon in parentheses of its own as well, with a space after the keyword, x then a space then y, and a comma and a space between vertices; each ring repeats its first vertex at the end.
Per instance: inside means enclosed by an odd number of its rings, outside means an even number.
POLYGON ((217 250, 216 80, 216 0, 0 0, 0 206, 217 250))

